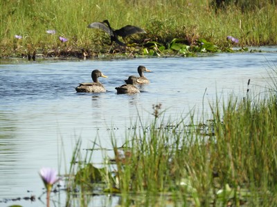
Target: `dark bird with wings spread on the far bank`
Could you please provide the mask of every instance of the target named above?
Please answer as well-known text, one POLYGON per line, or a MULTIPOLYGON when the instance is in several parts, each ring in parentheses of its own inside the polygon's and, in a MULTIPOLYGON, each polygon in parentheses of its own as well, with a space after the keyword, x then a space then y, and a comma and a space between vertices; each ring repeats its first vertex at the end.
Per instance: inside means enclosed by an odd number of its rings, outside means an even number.
POLYGON ((118 36, 123 37, 123 39, 124 39, 125 37, 127 37, 128 35, 131 35, 131 34, 146 33, 145 30, 143 30, 139 27, 136 27, 136 26, 131 26, 131 25, 127 25, 123 28, 120 28, 119 30, 113 30, 111 28, 111 26, 109 25, 109 21, 107 21, 107 20, 104 20, 103 22, 93 22, 93 23, 89 24, 89 26, 87 26, 87 27, 88 28, 98 28, 100 30, 104 30, 111 37, 111 44, 113 43, 113 41, 115 41, 120 46, 126 46, 126 44, 123 43, 122 41, 119 41, 118 36))

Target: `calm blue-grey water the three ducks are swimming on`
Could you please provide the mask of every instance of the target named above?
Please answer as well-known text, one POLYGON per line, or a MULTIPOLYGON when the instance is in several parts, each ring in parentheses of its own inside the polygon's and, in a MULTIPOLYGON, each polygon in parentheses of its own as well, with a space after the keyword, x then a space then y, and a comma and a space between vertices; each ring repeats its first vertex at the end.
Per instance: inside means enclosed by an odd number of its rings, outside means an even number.
MULTIPOLYGON (((205 112, 216 94, 221 99, 243 97, 248 79, 250 91, 258 94, 265 90, 260 86, 269 86, 267 70, 277 65, 276 51, 112 61, 0 60, 0 206, 44 206, 22 200, 5 204, 3 199, 39 197, 40 168, 60 166, 66 173, 79 138, 82 148, 91 147, 96 137, 101 146, 111 148, 113 133, 119 146, 138 115, 145 122, 153 119, 153 104, 162 103, 166 117, 179 119, 194 108, 202 114, 206 88, 205 112), (137 95, 116 95, 114 88, 137 75, 139 65, 152 70, 145 74, 150 85, 137 95), (100 78, 108 92, 76 93, 75 86, 91 81, 96 68, 108 76, 100 78)), ((101 158, 101 152, 94 156, 96 162, 101 158)))

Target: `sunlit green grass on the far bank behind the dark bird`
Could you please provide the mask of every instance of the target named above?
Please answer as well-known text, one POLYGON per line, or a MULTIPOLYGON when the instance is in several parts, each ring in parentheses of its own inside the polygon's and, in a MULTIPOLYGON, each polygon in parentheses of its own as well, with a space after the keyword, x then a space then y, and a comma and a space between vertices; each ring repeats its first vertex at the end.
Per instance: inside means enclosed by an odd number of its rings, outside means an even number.
POLYGON ((104 19, 109 19, 113 28, 127 24, 143 28, 146 34, 126 40, 140 46, 127 52, 139 54, 143 54, 147 41, 167 48, 175 38, 183 39, 188 46, 203 38, 221 48, 226 46, 228 35, 238 38, 239 46, 276 45, 276 6, 267 1, 259 5, 242 10, 241 5, 233 3, 215 8, 207 0, 1 1, 0 57, 28 53, 44 57, 82 56, 84 52, 91 57, 109 52, 108 35, 87 28, 89 23, 104 19), (46 30, 57 33, 47 34, 46 30), (61 42, 59 37, 69 41, 61 42))

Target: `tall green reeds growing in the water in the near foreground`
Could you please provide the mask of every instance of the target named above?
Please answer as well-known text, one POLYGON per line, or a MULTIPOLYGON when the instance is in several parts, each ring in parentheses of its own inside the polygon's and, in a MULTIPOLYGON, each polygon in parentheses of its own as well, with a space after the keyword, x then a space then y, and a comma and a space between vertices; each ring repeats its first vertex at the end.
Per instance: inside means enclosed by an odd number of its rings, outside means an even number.
POLYGON ((93 167, 96 146, 85 157, 77 148, 69 186, 80 190, 83 206, 105 193, 120 196, 122 206, 276 206, 276 81, 272 86, 265 98, 247 92, 217 100, 211 117, 190 114, 190 123, 165 120, 162 105, 153 106, 150 124, 138 121, 123 146, 111 135, 114 158, 104 157, 104 168, 93 167))

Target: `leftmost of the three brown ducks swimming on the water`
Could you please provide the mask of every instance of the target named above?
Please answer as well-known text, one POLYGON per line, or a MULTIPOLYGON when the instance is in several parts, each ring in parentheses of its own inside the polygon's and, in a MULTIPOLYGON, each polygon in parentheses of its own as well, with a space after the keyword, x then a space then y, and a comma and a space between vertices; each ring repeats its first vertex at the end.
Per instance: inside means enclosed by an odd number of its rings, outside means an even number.
POLYGON ((98 81, 98 77, 105 77, 100 70, 93 70, 91 72, 91 78, 93 83, 80 83, 80 86, 76 87, 77 92, 106 92, 105 87, 98 81))

